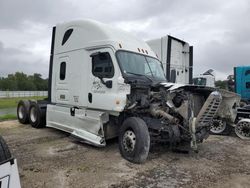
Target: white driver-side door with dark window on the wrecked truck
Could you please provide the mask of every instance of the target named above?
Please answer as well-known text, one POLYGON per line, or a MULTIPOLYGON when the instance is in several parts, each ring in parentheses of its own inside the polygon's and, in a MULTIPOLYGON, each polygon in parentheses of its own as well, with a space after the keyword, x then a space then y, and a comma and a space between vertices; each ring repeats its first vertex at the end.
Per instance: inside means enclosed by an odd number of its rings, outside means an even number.
POLYGON ((93 50, 90 57, 88 107, 117 111, 120 104, 117 89, 120 69, 114 51, 111 48, 93 50))

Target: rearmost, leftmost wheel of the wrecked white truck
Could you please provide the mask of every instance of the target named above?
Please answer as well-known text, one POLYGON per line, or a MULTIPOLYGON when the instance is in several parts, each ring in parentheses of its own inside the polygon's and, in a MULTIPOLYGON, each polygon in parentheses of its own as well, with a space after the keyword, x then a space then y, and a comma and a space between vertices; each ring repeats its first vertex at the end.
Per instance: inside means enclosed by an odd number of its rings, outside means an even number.
POLYGON ((17 119, 22 124, 29 123, 30 101, 20 100, 17 105, 17 119))

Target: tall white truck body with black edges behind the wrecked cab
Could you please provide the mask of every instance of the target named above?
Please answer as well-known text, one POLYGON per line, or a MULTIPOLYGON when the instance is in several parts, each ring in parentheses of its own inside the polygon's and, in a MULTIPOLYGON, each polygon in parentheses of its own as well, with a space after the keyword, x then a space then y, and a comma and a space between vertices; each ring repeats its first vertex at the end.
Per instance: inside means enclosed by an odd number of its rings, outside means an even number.
POLYGON ((162 62, 168 82, 192 84, 193 46, 170 35, 147 43, 162 62))

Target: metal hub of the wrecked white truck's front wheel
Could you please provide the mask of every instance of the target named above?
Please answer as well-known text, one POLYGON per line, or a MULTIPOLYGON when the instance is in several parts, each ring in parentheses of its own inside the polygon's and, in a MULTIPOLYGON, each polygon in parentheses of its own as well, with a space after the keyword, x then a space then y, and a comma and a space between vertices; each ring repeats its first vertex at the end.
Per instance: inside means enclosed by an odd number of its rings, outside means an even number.
POLYGON ((126 152, 133 152, 136 143, 135 133, 131 130, 127 130, 123 135, 122 142, 126 152))

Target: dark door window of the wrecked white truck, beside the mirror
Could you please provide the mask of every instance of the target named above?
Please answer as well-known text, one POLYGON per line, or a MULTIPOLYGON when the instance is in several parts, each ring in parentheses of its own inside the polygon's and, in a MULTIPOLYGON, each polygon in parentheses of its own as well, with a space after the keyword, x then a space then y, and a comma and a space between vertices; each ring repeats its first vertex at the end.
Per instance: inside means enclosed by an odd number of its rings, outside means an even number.
POLYGON ((108 52, 92 55, 92 74, 101 78, 114 76, 114 66, 108 52))

